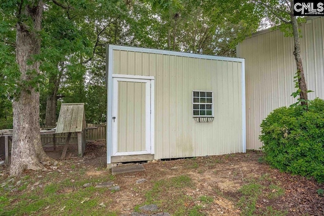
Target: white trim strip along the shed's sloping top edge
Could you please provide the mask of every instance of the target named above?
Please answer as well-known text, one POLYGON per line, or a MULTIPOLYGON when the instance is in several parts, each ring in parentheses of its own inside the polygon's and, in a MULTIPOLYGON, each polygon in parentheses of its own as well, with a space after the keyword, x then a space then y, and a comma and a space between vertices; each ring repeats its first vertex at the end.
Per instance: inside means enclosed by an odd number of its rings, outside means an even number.
POLYGON ((214 55, 176 52, 176 51, 170 51, 170 50, 157 50, 157 49, 141 48, 141 47, 127 47, 127 46, 111 45, 111 44, 109 44, 108 46, 109 46, 109 50, 111 48, 113 50, 142 52, 142 53, 154 53, 154 54, 162 54, 162 55, 174 55, 174 56, 182 56, 182 57, 190 57, 190 58, 201 58, 201 59, 211 59, 211 60, 221 60, 221 61, 235 61, 235 62, 244 61, 244 59, 242 59, 242 58, 230 58, 230 57, 222 57, 222 56, 214 56, 214 55))

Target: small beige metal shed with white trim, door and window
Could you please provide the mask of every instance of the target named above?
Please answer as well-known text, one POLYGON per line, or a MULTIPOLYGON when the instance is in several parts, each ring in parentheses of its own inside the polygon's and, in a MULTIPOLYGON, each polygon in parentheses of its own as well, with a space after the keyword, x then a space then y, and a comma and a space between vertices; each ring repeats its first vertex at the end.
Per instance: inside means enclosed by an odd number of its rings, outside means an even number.
POLYGON ((246 151, 244 59, 107 46, 107 164, 246 151))

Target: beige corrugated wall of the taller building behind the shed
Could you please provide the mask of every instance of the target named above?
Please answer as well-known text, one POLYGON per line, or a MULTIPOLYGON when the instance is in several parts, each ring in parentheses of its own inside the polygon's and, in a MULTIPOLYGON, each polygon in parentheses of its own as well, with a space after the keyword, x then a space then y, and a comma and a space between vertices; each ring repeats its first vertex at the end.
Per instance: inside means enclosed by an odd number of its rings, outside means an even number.
MULTIPOLYGON (((301 26, 301 50, 309 98, 324 98, 324 18, 309 19, 301 26)), ((274 109, 296 102, 294 39, 279 30, 263 31, 237 46, 245 58, 247 149, 259 149, 260 124, 274 109)))

